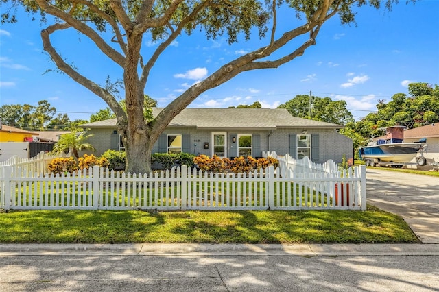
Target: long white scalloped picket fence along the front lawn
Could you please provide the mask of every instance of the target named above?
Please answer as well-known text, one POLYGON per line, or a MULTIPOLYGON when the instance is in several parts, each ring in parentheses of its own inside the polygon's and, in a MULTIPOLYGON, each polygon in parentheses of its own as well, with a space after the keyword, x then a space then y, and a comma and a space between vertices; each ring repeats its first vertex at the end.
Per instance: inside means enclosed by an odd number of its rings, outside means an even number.
POLYGON ((130 175, 97 166, 67 175, 0 167, 4 210, 366 210, 366 168, 302 173, 281 168, 206 173, 186 166, 130 175))

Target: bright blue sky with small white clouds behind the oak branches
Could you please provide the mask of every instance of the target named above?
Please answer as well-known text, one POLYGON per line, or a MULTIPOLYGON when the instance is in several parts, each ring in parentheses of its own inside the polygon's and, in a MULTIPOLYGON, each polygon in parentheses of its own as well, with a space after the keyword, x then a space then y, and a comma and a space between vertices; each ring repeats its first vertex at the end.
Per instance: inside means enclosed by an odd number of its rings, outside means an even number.
MULTIPOLYGON (((283 11, 279 16, 287 16, 283 11)), ((355 25, 343 27, 337 18, 321 29, 316 45, 278 69, 241 73, 226 84, 207 91, 189 107, 227 108, 259 101, 276 108, 296 95, 343 99, 356 119, 376 110, 378 99, 390 101, 407 93, 410 82, 439 84, 439 1, 400 1, 392 12, 361 8, 355 25)), ((281 27, 294 25, 292 17, 281 27), (292 22, 292 23, 289 23, 292 22)), ((102 99, 56 69, 43 51, 40 30, 46 25, 19 13, 19 23, 0 28, 0 106, 32 104, 46 99, 71 120, 88 119, 106 108, 102 99), (43 74, 44 73, 44 74, 43 74)), ((295 25, 296 26, 296 25, 295 25)), ((278 32, 282 32, 278 28, 278 32)), ((111 35, 106 36, 107 39, 111 35)), ((202 80, 226 62, 264 45, 254 34, 228 45, 226 38, 206 40, 204 34, 182 36, 159 58, 145 93, 163 107, 182 90, 202 80)), ((98 84, 121 78, 119 67, 73 30, 56 34, 54 46, 81 73, 98 84)), ((145 56, 156 44, 143 43, 145 56)))

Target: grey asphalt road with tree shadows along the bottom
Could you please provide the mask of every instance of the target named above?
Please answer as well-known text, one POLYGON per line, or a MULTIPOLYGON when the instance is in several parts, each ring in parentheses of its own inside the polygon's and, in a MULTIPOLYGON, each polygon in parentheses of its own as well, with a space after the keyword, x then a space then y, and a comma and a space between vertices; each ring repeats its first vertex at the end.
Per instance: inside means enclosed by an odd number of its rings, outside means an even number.
POLYGON ((436 256, 7 256, 0 291, 438 291, 436 256))

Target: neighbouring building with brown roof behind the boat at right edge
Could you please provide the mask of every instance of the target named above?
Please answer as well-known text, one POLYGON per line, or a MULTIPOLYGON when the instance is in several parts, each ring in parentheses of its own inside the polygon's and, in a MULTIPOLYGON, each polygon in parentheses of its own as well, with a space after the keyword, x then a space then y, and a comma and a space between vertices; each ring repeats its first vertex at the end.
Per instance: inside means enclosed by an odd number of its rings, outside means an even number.
POLYGON ((427 138, 427 163, 439 162, 439 125, 430 124, 404 131, 404 142, 415 142, 427 138))

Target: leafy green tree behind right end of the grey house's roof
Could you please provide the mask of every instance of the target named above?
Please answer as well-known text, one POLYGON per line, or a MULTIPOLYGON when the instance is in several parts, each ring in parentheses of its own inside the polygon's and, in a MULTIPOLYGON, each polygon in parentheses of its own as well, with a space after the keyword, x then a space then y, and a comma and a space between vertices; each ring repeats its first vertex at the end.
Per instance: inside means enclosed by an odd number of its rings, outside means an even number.
POLYGON ((278 108, 286 108, 293 117, 324 121, 338 125, 346 125, 354 121, 353 115, 346 109, 346 101, 333 101, 329 97, 312 97, 296 95, 278 108), (311 106, 311 116, 309 107, 311 106))

